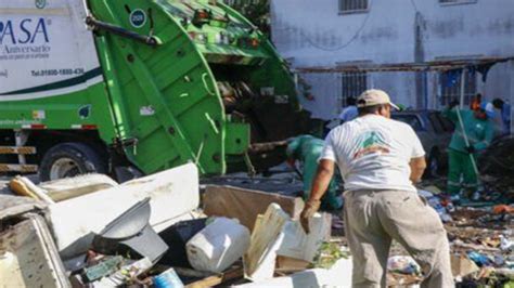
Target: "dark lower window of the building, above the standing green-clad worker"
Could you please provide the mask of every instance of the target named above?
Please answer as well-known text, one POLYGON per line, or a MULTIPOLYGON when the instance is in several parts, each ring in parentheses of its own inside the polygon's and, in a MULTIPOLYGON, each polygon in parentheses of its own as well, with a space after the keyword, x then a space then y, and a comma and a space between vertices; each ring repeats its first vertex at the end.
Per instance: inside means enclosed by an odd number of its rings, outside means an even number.
MULTIPOLYGON (((474 71, 467 70, 464 84, 464 105, 468 106, 472 99, 476 95, 476 75, 474 71)), ((441 73, 439 75, 440 99, 439 104, 446 106, 451 101, 461 99, 461 75, 441 73)))

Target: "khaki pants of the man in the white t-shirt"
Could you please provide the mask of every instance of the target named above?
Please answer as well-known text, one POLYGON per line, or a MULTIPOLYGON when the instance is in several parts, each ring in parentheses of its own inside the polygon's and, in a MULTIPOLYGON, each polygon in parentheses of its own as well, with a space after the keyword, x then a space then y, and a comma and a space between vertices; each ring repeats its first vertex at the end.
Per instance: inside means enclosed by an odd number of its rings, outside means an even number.
POLYGON ((437 212, 407 191, 345 193, 345 228, 354 257, 354 287, 385 287, 391 240, 420 264, 422 287, 454 287, 450 249, 437 212))

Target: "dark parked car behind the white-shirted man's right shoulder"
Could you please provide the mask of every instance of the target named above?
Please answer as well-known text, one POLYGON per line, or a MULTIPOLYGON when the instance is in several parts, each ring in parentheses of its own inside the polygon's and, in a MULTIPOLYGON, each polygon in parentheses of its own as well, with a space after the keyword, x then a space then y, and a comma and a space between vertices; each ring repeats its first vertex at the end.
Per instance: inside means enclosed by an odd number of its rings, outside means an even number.
POLYGON ((391 114, 391 118, 408 123, 414 129, 426 152, 425 178, 446 174, 448 169, 448 145, 454 125, 438 110, 404 110, 391 114))

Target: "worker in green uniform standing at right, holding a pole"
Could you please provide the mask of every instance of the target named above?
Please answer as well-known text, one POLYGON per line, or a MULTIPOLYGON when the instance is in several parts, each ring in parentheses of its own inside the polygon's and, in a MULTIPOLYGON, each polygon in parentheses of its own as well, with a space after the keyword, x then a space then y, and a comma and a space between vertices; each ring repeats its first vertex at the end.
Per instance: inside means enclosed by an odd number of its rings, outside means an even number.
POLYGON ((476 192, 478 188, 478 175, 473 167, 471 157, 489 146, 493 138, 494 108, 491 103, 483 102, 477 110, 453 108, 459 105, 458 102, 450 103, 450 106, 442 112, 455 123, 455 131, 451 138, 448 149, 449 171, 447 192, 457 195, 461 191, 461 175, 463 176, 462 187, 467 193, 476 192), (462 118, 462 125, 459 121, 459 115, 462 118), (464 131, 462 131, 462 126, 464 131), (465 133, 465 135, 464 135, 465 133), (467 136, 470 145, 466 145, 464 136, 467 136))

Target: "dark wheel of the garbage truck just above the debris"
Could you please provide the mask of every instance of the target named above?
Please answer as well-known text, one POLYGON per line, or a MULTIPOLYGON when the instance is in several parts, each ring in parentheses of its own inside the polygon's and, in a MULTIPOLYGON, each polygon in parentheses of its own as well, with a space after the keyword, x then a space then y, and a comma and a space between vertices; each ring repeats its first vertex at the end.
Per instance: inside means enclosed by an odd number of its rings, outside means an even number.
POLYGON ((41 181, 70 178, 86 173, 107 173, 106 162, 89 145, 67 142, 53 146, 39 167, 41 181))

